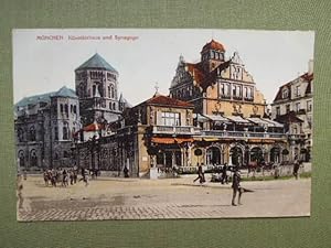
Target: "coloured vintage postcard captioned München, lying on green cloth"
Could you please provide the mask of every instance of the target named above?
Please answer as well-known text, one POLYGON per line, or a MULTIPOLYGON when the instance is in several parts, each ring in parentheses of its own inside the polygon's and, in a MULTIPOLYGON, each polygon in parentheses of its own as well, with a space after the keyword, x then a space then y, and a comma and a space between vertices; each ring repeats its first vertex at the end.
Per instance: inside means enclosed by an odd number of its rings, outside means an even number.
POLYGON ((310 216, 314 32, 12 39, 18 220, 310 216))

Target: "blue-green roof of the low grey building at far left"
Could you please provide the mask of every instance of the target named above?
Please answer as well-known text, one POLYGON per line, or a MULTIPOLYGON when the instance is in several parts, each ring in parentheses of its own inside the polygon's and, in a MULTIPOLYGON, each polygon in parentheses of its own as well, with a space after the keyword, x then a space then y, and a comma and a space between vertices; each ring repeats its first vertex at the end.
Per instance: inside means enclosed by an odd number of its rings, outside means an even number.
POLYGON ((51 97, 72 97, 78 98, 75 91, 66 86, 63 86, 57 91, 39 94, 30 97, 24 97, 15 104, 15 107, 24 107, 28 105, 36 105, 38 103, 51 103, 51 97))

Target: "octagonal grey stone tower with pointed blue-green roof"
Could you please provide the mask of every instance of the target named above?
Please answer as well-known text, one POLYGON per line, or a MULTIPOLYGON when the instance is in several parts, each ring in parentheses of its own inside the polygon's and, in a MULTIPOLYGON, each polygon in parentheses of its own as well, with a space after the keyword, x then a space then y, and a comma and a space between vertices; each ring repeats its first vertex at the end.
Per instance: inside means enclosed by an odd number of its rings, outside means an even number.
POLYGON ((118 119, 118 72, 98 53, 75 69, 75 83, 84 126, 118 119))

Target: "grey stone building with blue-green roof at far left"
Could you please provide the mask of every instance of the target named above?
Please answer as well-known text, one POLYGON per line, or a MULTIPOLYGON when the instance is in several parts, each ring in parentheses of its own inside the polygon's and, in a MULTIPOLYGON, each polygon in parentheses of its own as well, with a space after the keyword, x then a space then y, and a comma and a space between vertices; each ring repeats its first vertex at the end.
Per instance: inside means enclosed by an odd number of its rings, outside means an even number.
POLYGON ((19 168, 72 164, 72 134, 81 129, 79 101, 65 86, 57 91, 24 97, 14 106, 19 168))

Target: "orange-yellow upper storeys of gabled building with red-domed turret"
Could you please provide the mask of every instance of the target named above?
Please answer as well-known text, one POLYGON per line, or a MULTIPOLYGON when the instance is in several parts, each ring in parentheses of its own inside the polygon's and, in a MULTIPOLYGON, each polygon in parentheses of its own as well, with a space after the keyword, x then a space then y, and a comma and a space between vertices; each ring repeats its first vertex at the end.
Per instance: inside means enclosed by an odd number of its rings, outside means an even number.
POLYGON ((186 100, 203 115, 263 117, 266 103, 237 52, 226 60, 224 45, 212 40, 201 51, 201 62, 183 56, 170 86, 170 96, 186 100))

